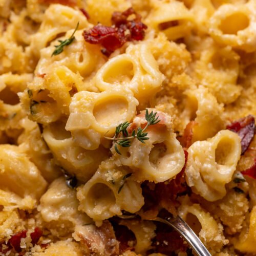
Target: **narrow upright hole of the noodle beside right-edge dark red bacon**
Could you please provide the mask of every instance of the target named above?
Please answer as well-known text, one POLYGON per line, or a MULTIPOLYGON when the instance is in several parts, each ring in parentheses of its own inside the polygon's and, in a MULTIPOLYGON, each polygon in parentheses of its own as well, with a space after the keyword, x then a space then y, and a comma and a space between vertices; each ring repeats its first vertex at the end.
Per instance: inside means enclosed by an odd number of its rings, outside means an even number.
POLYGON ((222 138, 215 150, 215 162, 220 165, 229 165, 233 162, 234 142, 228 137, 222 138))

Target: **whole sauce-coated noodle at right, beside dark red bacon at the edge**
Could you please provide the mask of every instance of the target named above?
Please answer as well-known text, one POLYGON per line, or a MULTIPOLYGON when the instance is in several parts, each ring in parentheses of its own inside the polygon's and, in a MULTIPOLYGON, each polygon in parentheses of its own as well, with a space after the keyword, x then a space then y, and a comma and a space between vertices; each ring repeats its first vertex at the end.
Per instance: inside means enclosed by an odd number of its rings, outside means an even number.
POLYGON ((193 143, 188 148, 185 170, 188 185, 208 201, 223 198, 225 184, 231 181, 240 155, 240 138, 228 130, 193 143))

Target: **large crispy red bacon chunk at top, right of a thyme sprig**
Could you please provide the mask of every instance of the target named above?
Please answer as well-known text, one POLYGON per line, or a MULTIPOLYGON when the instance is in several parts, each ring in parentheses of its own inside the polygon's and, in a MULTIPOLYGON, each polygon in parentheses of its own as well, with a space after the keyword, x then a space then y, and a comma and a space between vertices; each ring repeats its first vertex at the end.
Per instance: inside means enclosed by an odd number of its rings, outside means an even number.
POLYGON ((141 22, 141 16, 133 8, 114 12, 111 20, 112 27, 97 25, 89 31, 84 30, 82 34, 89 44, 101 45, 104 48, 102 53, 106 56, 122 47, 126 41, 144 39, 147 26, 141 22), (132 14, 135 14, 135 18, 129 20, 132 14))

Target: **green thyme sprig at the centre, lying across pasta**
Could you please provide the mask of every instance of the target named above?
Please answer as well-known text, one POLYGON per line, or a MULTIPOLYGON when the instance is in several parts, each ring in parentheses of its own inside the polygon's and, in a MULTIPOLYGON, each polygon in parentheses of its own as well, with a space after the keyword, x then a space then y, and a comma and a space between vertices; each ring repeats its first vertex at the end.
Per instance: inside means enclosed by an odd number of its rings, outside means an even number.
POLYGON ((131 146, 131 139, 137 138, 140 142, 145 143, 145 140, 148 140, 149 138, 146 137, 147 133, 144 133, 145 130, 147 129, 148 126, 150 125, 154 125, 157 124, 158 122, 160 122, 160 120, 158 120, 158 116, 156 117, 157 112, 151 112, 150 114, 148 114, 148 110, 146 109, 146 114, 145 114, 145 119, 147 121, 146 126, 142 129, 141 127, 138 127, 137 132, 136 130, 134 130, 132 132, 132 136, 128 136, 129 133, 127 131, 127 127, 130 125, 129 122, 124 122, 119 124, 116 127, 116 131, 115 131, 115 135, 113 138, 111 137, 105 137, 105 139, 108 140, 113 140, 114 145, 115 145, 115 151, 121 155, 120 151, 118 150, 117 145, 122 146, 122 147, 129 147, 131 146), (120 133, 122 133, 122 137, 118 137, 120 135, 120 133))

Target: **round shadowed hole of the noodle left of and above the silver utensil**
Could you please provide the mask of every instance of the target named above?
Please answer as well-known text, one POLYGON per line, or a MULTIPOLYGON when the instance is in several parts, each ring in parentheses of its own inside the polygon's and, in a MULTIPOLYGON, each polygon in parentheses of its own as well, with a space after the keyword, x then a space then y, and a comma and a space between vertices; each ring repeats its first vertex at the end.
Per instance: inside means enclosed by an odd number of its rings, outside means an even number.
POLYGON ((109 208, 116 203, 113 191, 104 183, 94 184, 88 192, 87 200, 93 208, 109 208))

